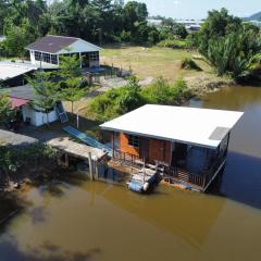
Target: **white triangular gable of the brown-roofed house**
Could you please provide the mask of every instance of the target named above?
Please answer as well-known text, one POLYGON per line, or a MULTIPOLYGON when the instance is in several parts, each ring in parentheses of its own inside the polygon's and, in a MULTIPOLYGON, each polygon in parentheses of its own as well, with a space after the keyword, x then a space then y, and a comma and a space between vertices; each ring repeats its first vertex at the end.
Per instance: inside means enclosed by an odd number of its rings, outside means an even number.
POLYGON ((96 52, 100 51, 101 48, 95 46, 90 42, 85 40, 78 39, 77 41, 73 42, 67 48, 58 52, 58 54, 65 54, 65 53, 75 53, 75 52, 96 52))

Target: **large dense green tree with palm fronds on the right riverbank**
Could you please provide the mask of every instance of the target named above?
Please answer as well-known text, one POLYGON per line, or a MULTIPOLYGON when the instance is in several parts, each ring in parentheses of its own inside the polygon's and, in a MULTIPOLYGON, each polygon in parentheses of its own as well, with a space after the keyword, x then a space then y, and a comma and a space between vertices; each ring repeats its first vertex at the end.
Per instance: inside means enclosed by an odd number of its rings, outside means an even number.
POLYGON ((219 75, 249 76, 254 57, 261 52, 259 29, 244 24, 225 9, 209 13, 197 38, 199 51, 215 66, 219 75))

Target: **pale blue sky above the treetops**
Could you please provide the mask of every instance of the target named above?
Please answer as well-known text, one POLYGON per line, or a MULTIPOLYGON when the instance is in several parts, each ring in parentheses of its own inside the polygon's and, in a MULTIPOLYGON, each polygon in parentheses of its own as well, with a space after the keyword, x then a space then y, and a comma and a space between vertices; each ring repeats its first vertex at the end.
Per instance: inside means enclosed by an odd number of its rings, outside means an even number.
POLYGON ((261 0, 137 0, 147 3, 150 15, 173 18, 206 18, 208 11, 226 8, 229 13, 245 17, 261 11, 261 0))

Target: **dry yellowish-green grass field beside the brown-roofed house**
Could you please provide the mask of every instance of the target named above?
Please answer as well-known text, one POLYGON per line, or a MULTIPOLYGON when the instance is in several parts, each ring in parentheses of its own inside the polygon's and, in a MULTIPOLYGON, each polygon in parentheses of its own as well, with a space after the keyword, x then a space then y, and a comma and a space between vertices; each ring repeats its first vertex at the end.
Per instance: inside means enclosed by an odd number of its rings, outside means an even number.
MULTIPOLYGON (((185 58, 199 55, 196 51, 169 48, 144 47, 105 47, 101 52, 101 64, 114 65, 133 72, 140 78, 163 76, 173 82, 197 72, 182 70, 185 58)), ((203 71, 211 67, 202 60, 197 60, 203 71)))

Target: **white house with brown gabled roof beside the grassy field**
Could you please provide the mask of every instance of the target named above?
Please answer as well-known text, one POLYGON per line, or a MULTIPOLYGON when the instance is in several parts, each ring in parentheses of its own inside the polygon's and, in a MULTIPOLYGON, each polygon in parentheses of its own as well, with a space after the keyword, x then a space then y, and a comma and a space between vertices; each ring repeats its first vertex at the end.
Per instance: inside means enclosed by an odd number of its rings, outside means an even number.
POLYGON ((61 55, 76 54, 80 67, 100 65, 100 50, 88 41, 75 37, 47 35, 25 48, 30 53, 30 62, 44 67, 59 67, 61 55))

